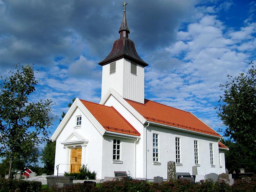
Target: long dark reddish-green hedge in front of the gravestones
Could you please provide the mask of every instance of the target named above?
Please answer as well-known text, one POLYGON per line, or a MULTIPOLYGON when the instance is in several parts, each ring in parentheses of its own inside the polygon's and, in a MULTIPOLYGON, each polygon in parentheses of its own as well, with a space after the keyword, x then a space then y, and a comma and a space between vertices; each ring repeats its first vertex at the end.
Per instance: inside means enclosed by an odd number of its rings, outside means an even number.
POLYGON ((99 186, 85 185, 83 183, 63 188, 53 188, 54 192, 256 192, 256 177, 236 180, 229 186, 224 180, 213 182, 201 180, 192 183, 189 180, 172 180, 162 183, 148 183, 143 180, 105 181, 99 186))

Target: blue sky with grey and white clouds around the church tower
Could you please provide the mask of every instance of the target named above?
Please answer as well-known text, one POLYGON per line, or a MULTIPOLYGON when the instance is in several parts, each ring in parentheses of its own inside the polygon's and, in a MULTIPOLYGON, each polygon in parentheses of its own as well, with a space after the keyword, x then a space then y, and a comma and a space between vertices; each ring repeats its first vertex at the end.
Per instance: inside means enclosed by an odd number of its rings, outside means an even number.
MULTIPOLYGON (((0 75, 33 63, 32 101, 61 116, 78 97, 100 101, 101 66, 119 38, 123 1, 0 0, 0 75)), ((145 68, 145 97, 190 111, 214 130, 220 84, 255 61, 255 1, 127 0, 129 38, 145 68)), ((55 121, 52 132, 58 125, 55 121)))

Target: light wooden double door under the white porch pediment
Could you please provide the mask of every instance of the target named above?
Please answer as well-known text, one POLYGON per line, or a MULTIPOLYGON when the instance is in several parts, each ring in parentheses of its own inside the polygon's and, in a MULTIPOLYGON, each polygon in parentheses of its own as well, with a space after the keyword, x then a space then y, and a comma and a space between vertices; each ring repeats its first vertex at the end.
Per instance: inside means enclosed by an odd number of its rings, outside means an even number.
POLYGON ((70 153, 70 173, 77 173, 81 168, 82 148, 71 149, 70 153))

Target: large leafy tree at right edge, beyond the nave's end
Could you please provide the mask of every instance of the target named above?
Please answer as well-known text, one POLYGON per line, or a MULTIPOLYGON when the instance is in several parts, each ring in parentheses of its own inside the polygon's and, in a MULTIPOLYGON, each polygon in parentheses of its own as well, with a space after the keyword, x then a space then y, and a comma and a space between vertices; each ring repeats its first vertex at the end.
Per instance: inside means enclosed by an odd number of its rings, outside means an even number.
POLYGON ((218 116, 226 125, 225 137, 243 144, 248 152, 254 153, 256 148, 256 71, 251 68, 246 74, 241 73, 220 85, 224 95, 220 96, 218 116))

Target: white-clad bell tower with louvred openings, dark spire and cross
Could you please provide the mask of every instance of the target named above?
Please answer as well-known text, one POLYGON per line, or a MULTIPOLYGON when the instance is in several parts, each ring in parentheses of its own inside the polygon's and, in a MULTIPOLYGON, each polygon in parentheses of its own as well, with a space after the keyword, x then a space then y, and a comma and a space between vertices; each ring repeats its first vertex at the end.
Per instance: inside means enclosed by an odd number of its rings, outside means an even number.
POLYGON ((130 30, 125 15, 117 39, 108 56, 99 63, 102 66, 101 99, 113 88, 121 97, 144 104, 144 67, 148 66, 138 55, 134 42, 129 39, 130 30))

